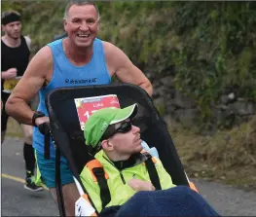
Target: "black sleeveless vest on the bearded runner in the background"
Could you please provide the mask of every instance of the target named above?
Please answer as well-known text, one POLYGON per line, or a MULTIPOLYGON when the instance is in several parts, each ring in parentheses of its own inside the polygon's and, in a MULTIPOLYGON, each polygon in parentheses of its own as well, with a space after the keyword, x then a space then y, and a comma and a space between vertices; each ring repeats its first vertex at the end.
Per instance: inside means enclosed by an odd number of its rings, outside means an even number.
MULTIPOLYGON (((30 51, 26 45, 25 38, 20 36, 20 45, 17 48, 8 47, 1 40, 1 72, 10 68, 17 68, 17 76, 22 76, 29 62, 30 51)), ((6 98, 10 93, 3 92, 5 80, 1 80, 2 97, 6 98)))

